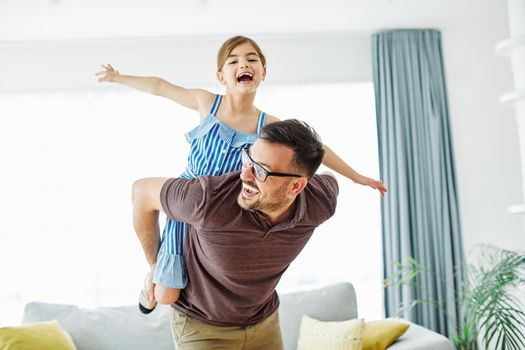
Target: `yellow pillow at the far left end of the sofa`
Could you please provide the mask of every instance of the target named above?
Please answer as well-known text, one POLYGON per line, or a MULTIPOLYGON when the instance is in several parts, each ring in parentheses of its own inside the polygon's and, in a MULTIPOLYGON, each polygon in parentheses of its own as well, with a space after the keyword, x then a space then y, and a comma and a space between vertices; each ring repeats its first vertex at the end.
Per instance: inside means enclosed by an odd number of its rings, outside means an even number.
POLYGON ((0 328, 0 350, 76 350, 57 321, 0 328))

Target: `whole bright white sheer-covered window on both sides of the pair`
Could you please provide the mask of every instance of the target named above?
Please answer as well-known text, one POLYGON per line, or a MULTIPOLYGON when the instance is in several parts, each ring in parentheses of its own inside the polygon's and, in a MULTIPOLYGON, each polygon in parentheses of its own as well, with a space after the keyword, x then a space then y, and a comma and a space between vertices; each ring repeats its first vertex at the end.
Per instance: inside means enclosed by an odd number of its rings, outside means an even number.
MULTIPOLYGON (((266 86, 257 105, 313 125, 359 171, 377 176, 373 88, 266 86)), ((136 303, 146 264, 131 184, 177 176, 195 112, 126 89, 0 95, 0 326, 31 300, 136 303)), ((361 315, 381 316, 379 195, 340 179, 336 215, 284 275, 281 291, 349 280, 361 315)))

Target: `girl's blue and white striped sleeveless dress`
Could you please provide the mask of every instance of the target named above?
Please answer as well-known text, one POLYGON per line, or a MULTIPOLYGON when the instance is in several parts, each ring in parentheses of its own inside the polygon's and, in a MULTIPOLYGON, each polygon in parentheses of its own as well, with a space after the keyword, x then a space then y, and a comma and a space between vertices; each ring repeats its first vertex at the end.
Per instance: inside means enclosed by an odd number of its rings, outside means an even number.
MULTIPOLYGON (((218 176, 241 169, 241 151, 252 145, 264 126, 266 113, 261 112, 255 134, 231 128, 217 119, 217 111, 222 101, 216 95, 210 113, 193 130, 186 134, 190 143, 188 166, 181 178, 194 178, 199 175, 218 176)), ((188 283, 183 257, 186 224, 166 220, 162 233, 157 265, 153 281, 161 286, 184 288, 188 283)))

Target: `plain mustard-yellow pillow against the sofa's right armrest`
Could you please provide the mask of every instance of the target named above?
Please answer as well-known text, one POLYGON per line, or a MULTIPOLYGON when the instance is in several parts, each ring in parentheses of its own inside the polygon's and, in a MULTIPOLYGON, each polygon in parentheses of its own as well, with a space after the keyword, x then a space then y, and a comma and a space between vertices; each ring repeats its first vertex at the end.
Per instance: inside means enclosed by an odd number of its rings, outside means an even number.
POLYGON ((363 350, 385 350, 408 329, 408 323, 371 321, 365 324, 363 350))

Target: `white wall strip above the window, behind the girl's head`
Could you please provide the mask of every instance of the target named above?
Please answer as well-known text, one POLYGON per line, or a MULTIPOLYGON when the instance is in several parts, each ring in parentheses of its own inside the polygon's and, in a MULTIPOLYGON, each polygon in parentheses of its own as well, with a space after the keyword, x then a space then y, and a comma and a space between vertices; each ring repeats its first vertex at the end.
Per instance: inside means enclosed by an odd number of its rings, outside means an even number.
MULTIPOLYGON (((267 56, 269 84, 372 79, 368 35, 252 36, 267 56)), ((94 73, 111 63, 123 74, 158 75, 181 85, 213 86, 225 36, 0 42, 0 92, 100 89, 94 73)))

